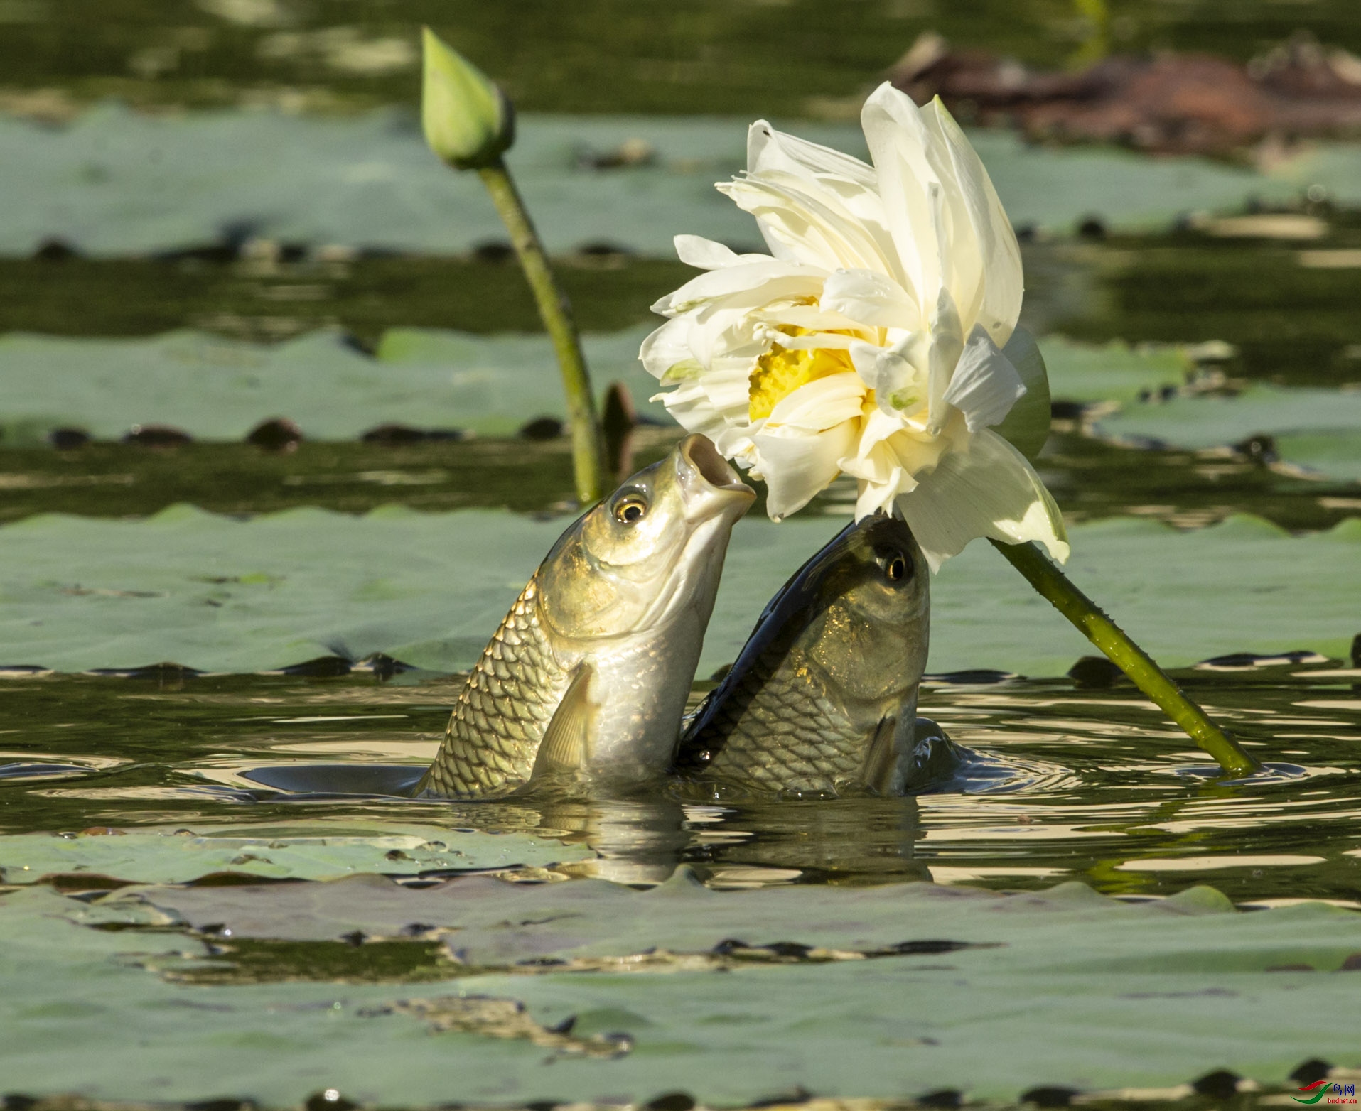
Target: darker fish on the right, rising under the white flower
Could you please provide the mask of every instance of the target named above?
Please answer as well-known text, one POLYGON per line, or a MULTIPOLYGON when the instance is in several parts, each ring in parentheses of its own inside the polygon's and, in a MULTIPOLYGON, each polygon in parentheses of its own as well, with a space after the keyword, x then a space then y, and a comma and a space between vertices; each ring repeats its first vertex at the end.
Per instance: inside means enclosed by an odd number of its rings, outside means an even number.
POLYGON ((675 771, 802 797, 901 794, 947 771, 958 751, 916 717, 928 579, 902 521, 845 528, 766 605, 685 730, 675 771))

